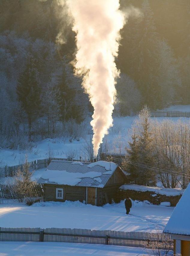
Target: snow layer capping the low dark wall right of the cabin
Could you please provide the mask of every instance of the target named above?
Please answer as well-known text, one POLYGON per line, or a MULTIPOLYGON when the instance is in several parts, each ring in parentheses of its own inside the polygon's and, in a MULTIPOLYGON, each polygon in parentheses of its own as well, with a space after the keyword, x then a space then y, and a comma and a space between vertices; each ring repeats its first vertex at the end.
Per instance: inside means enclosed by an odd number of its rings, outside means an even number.
POLYGON ((135 191, 151 191, 155 192, 156 194, 160 195, 167 195, 167 196, 175 196, 175 195, 182 195, 184 192, 184 189, 176 188, 176 189, 167 189, 167 188, 160 188, 160 187, 146 187, 146 186, 141 186, 141 185, 133 185, 133 184, 127 184, 127 185, 122 185, 120 186, 120 189, 131 189, 135 191))

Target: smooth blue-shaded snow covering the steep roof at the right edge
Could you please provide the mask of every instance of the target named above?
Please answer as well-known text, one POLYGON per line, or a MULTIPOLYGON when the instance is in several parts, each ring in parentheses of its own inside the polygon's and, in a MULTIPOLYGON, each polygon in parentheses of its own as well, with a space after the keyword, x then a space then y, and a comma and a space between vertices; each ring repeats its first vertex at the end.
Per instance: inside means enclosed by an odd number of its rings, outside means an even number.
POLYGON ((185 189, 180 201, 164 229, 164 233, 190 236, 190 183, 185 189))

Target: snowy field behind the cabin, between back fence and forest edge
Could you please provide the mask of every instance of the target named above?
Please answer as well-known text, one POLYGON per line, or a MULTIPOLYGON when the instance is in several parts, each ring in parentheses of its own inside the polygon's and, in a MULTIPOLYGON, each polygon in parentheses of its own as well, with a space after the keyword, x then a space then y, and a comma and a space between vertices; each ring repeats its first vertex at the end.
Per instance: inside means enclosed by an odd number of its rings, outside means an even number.
MULTIPOLYGON (((190 111, 190 106, 171 106, 168 110, 190 111)), ((124 152, 124 148, 129 141, 130 128, 135 118, 136 116, 114 117, 114 126, 109 129, 109 134, 106 136, 107 154, 115 154, 117 148, 114 148, 113 144, 114 141, 117 141, 118 139, 121 141, 124 152)), ((152 117, 152 119, 162 121, 163 119, 166 119, 166 117, 152 117)), ((179 118, 176 117, 171 117, 170 119, 175 122, 179 120, 179 118)), ((89 130, 89 127, 90 123, 87 130, 89 130)), ((81 138, 80 141, 72 140, 72 142, 70 142, 69 139, 70 138, 44 139, 42 141, 35 142, 32 148, 22 151, 0 148, 0 165, 13 166, 22 164, 25 161, 26 152, 28 154, 28 161, 49 158, 49 151, 51 152, 52 157, 67 158, 72 155, 73 158, 76 159, 79 159, 79 157, 82 157, 82 159, 88 159, 83 147, 85 140, 88 142, 90 141, 90 135, 86 135, 86 138, 81 138)), ((117 142, 115 144, 117 144, 117 142)))

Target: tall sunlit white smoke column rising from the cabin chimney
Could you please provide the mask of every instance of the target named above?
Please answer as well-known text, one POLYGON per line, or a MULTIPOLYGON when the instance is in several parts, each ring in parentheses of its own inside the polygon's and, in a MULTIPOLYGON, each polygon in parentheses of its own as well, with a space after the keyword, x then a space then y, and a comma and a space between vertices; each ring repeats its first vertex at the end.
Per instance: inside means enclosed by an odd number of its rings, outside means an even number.
POLYGON ((125 14, 119 10, 119 0, 67 0, 66 3, 77 34, 76 74, 84 75, 82 85, 94 107, 91 126, 96 156, 113 123, 115 78, 119 76, 114 58, 125 14))

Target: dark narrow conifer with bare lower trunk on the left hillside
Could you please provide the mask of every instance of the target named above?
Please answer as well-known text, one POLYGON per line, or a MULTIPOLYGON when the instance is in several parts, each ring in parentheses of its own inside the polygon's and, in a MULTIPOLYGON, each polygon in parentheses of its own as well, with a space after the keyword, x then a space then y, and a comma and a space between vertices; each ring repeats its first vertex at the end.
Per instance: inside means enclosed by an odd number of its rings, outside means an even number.
POLYGON ((34 59, 28 56, 26 69, 20 75, 16 88, 18 100, 28 117, 28 139, 31 140, 31 125, 40 113, 40 85, 34 59))

